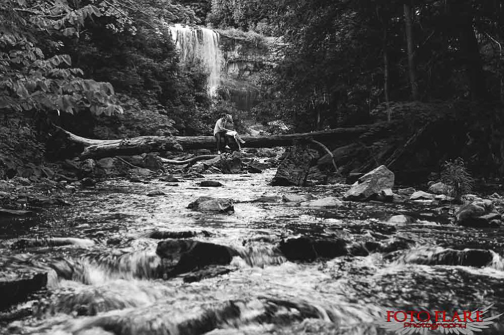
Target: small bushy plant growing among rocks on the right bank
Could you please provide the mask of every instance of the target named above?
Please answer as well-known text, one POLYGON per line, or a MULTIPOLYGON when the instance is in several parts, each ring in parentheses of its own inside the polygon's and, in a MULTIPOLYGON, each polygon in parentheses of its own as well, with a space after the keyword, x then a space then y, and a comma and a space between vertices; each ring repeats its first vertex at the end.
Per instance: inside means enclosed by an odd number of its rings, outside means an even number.
POLYGON ((473 178, 467 170, 464 160, 460 157, 455 160, 447 160, 441 172, 441 181, 447 185, 449 194, 457 202, 463 195, 471 192, 473 178))

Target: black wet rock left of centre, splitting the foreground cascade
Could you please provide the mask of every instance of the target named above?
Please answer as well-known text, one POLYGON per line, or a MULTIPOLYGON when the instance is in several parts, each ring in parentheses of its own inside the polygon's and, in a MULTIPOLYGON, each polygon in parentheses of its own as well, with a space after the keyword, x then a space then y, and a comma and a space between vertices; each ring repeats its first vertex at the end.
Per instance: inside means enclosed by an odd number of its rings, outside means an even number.
POLYGON ((236 250, 227 246, 180 239, 159 242, 156 253, 161 257, 168 277, 208 265, 228 265, 234 256, 238 256, 236 250))

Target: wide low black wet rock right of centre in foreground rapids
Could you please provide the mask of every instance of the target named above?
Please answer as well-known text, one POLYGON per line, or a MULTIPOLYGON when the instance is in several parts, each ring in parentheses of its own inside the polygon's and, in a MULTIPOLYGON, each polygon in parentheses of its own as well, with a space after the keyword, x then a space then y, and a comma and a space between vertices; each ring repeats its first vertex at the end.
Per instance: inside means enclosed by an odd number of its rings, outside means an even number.
POLYGON ((312 237, 290 238, 280 242, 279 249, 288 260, 313 261, 346 255, 346 241, 312 237))

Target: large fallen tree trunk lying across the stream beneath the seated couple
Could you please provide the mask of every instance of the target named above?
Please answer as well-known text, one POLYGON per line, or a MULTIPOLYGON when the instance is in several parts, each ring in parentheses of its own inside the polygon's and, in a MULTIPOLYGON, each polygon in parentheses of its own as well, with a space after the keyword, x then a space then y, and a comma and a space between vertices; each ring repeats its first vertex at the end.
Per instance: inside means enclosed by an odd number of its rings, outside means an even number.
MULTIPOLYGON (((308 133, 273 135, 263 137, 243 137, 243 148, 271 148, 292 146, 294 143, 351 141, 368 131, 370 126, 336 128, 308 133)), ((189 149, 215 149, 213 136, 166 137, 142 136, 123 140, 92 140, 77 136, 57 127, 49 148, 49 158, 61 160, 69 157, 104 158, 137 155, 148 152, 181 151, 189 149)))

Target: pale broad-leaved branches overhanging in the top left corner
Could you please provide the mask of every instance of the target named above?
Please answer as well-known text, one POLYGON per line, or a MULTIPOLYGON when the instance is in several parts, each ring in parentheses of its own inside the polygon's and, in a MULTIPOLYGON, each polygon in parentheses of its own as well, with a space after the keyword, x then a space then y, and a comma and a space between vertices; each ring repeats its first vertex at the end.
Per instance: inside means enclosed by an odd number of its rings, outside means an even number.
POLYGON ((96 7, 71 9, 64 2, 49 6, 46 2, 7 0, 0 5, 0 13, 0 110, 122 112, 112 85, 82 79, 82 70, 70 67, 69 55, 46 57, 32 35, 40 31, 78 35, 86 20, 101 16, 96 7))

